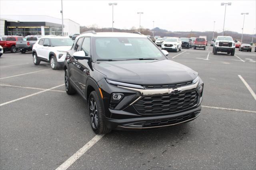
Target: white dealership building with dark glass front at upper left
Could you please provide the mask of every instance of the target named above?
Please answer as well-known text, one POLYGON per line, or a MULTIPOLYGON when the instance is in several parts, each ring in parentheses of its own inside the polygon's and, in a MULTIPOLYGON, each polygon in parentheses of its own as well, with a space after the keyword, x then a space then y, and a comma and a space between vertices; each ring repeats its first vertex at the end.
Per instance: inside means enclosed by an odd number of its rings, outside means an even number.
MULTIPOLYGON (((80 34, 80 25, 70 19, 63 19, 64 36, 80 34)), ((61 35, 62 20, 46 15, 1 15, 0 36, 4 35, 61 35)))

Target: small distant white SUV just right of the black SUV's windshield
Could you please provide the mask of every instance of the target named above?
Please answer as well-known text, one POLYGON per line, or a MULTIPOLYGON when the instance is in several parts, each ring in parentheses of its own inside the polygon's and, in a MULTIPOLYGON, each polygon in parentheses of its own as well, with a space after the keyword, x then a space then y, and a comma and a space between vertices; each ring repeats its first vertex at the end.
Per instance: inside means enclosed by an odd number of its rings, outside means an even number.
POLYGON ((177 37, 168 37, 164 40, 161 47, 166 51, 181 51, 181 40, 177 37))

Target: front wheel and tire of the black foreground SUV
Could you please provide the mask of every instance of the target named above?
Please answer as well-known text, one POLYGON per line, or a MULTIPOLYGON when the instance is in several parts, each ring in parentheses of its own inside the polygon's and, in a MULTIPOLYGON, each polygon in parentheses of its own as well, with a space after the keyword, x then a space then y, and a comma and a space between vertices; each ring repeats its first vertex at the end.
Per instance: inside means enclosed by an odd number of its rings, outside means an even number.
POLYGON ((96 91, 90 93, 88 99, 88 113, 92 130, 96 134, 106 134, 111 132, 111 129, 107 128, 106 123, 104 122, 103 104, 100 100, 101 99, 96 91))

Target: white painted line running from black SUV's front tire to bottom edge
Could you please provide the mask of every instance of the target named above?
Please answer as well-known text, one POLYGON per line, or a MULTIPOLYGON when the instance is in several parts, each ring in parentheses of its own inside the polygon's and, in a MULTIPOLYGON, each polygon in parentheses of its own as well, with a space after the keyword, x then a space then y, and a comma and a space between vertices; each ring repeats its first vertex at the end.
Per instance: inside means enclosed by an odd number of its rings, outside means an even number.
POLYGON ((66 170, 70 167, 76 160, 78 160, 88 149, 90 149, 94 144, 96 144, 104 134, 97 134, 88 143, 86 143, 81 149, 79 149, 75 154, 73 154, 68 160, 61 164, 56 170, 66 170))

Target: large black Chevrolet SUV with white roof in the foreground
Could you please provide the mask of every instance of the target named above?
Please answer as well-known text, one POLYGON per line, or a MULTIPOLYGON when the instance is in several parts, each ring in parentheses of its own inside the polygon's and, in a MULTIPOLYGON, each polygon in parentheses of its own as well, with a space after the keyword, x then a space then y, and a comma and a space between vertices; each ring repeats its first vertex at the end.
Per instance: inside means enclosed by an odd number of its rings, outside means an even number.
POLYGON ((88 103, 97 134, 164 128, 200 115, 203 82, 140 34, 94 31, 67 51, 65 86, 88 103))

